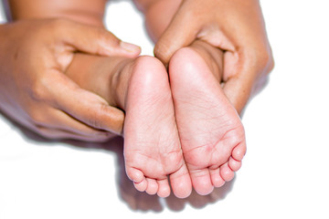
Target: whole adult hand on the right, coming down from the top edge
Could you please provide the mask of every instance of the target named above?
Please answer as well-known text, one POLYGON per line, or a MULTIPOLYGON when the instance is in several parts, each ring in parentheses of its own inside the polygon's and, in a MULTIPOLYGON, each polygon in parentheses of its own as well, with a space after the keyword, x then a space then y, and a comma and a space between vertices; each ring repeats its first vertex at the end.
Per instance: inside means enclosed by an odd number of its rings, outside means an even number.
POLYGON ((225 51, 222 83, 240 113, 273 68, 258 0, 182 0, 154 47, 168 64, 176 50, 202 39, 225 51))

